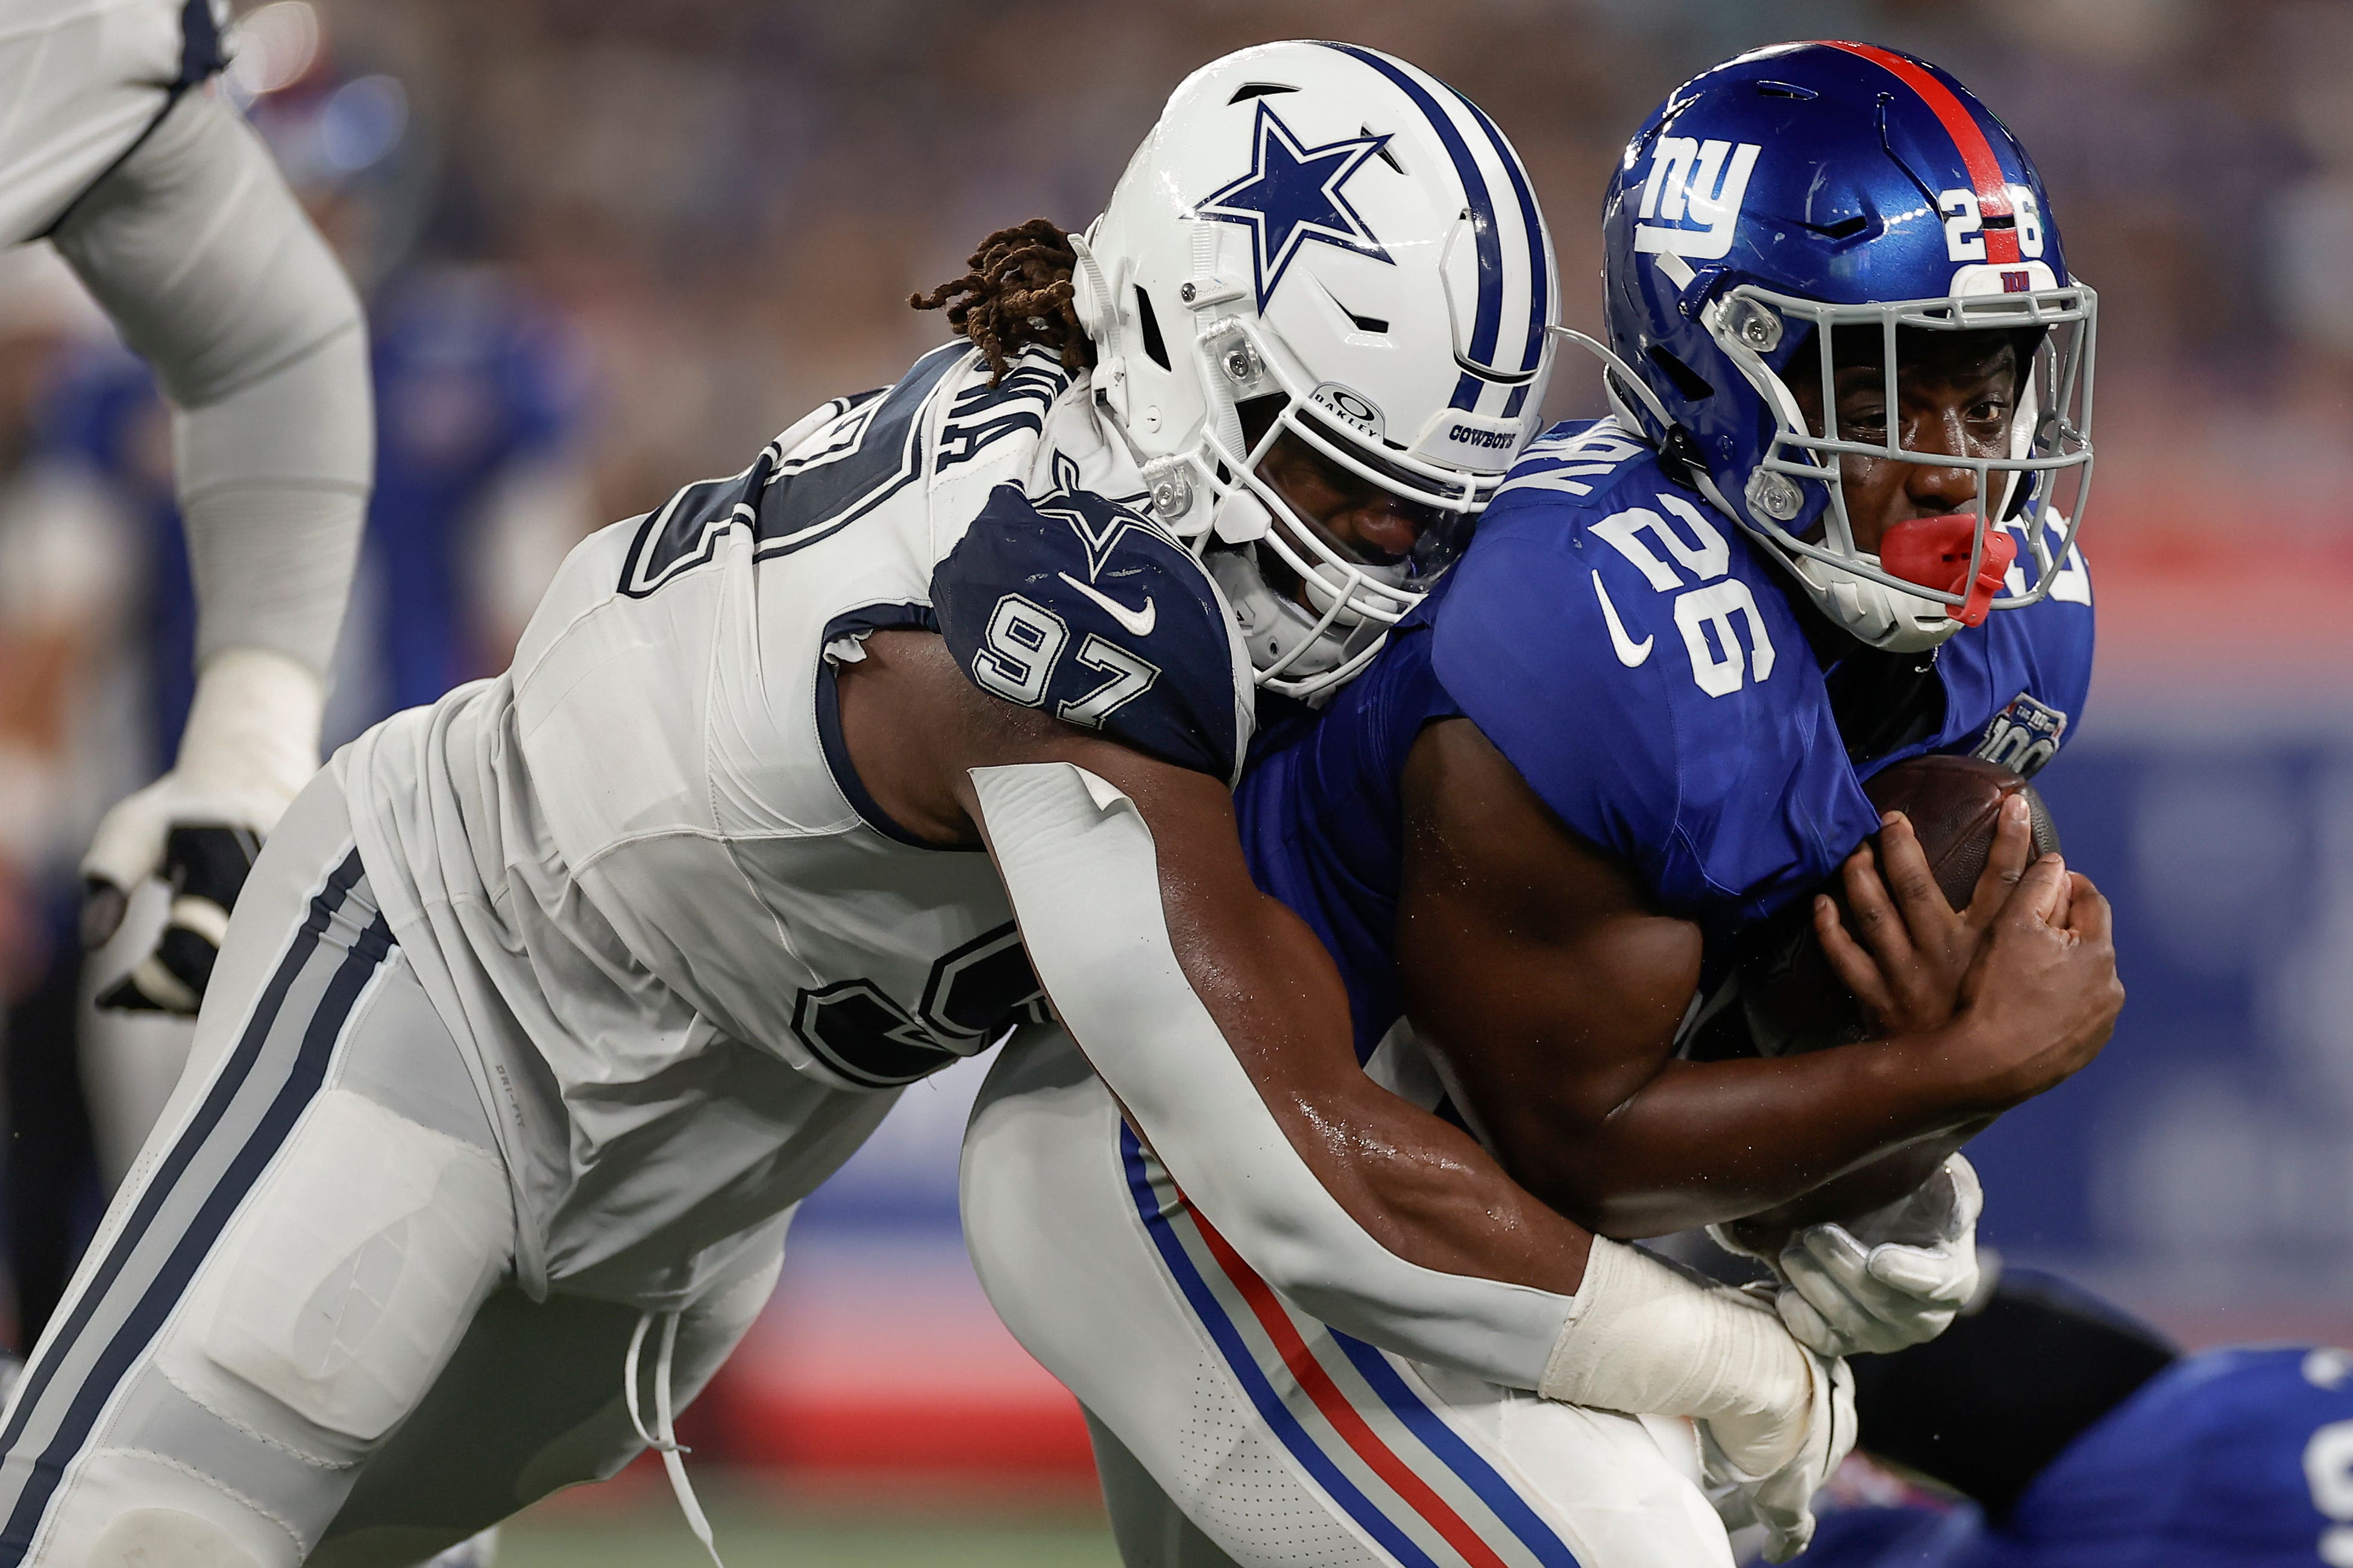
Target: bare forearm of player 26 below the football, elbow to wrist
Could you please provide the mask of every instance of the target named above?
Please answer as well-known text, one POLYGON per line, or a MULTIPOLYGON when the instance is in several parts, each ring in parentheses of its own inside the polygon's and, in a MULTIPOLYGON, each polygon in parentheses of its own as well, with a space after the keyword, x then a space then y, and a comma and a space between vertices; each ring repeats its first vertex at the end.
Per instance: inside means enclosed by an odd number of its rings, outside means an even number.
POLYGON ((1671 1060, 1602 1117, 1520 1112, 1497 1119, 1494 1133, 1506 1168, 1562 1213, 1605 1237, 1659 1237, 1798 1204, 1894 1157, 1861 1187, 1873 1190, 1899 1180, 1897 1166, 1925 1140, 1941 1145, 1925 1159, 1934 1171, 1979 1117, 1939 1081, 1934 1060, 1929 1041, 1671 1060))

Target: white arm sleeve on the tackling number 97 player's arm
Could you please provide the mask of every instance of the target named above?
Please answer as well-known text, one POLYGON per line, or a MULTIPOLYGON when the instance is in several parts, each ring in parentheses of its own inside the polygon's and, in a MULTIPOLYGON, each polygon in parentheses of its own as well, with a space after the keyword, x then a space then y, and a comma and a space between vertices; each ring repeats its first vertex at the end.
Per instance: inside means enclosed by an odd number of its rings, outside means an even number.
POLYGON ((1341 1333, 1537 1387, 1572 1298, 1412 1265, 1325 1192, 1176 961, 1136 804, 1066 762, 974 769, 972 783, 1054 1011, 1249 1267, 1341 1333))

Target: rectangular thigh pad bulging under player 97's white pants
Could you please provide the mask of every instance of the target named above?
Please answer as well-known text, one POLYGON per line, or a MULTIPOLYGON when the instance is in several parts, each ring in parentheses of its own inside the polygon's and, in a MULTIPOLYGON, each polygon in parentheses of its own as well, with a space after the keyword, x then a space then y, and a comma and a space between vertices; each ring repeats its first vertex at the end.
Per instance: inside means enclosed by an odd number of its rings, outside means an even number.
POLYGON ((205 1265, 162 1368, 216 1415, 348 1462, 424 1399, 511 1253, 494 1157, 329 1088, 205 1265))

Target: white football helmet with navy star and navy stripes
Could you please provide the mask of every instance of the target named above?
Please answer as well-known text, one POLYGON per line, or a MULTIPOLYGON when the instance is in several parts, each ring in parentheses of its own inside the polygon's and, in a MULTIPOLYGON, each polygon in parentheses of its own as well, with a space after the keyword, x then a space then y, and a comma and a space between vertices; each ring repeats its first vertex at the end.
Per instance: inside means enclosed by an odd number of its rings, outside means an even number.
POLYGON ((1176 87, 1073 240, 1096 395, 1153 512, 1205 552, 1261 686, 1339 686, 1537 433, 1560 287, 1520 155, 1405 61, 1264 45, 1176 87), (1365 559, 1285 505, 1254 473, 1285 433, 1428 508, 1414 548, 1365 559))

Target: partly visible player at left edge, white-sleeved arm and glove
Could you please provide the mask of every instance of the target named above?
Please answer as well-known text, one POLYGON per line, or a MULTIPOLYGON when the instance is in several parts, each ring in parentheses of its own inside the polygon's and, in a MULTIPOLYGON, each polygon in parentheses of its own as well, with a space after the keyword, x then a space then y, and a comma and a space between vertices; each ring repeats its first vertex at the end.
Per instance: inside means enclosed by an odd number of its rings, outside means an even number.
POLYGON ((216 92, 226 0, 28 0, 0 35, 0 244, 49 240, 162 381, 200 595, 179 759, 118 804, 85 940, 162 877, 106 1004, 193 1013, 259 835, 318 769, 374 465, 360 301, 216 92))

